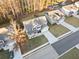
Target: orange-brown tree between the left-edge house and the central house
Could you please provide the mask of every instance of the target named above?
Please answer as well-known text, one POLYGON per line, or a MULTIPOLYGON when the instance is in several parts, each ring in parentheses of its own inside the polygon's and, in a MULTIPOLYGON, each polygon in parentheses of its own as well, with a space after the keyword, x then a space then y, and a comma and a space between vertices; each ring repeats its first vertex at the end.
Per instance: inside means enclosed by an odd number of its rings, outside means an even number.
POLYGON ((20 26, 16 23, 16 21, 11 19, 10 23, 12 25, 13 32, 9 33, 8 35, 10 39, 16 41, 18 47, 22 48, 22 46, 28 42, 28 37, 20 28, 20 26))

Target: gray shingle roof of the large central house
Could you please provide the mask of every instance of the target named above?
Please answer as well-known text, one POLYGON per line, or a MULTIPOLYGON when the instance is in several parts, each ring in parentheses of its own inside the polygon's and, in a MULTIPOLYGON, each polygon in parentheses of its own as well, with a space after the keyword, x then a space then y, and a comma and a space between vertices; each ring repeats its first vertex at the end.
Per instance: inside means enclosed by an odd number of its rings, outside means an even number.
POLYGON ((35 18, 33 21, 30 21, 28 24, 25 24, 25 29, 27 33, 31 35, 32 33, 38 32, 42 27, 46 25, 46 21, 42 18, 35 18))

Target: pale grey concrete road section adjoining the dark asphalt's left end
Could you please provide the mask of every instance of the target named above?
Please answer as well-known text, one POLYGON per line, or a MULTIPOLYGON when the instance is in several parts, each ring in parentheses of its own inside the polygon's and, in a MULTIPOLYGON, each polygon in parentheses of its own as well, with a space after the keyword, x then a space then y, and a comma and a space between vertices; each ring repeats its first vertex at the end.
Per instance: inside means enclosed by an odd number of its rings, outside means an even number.
POLYGON ((23 59, 57 59, 58 54, 51 45, 47 45, 30 55, 25 56, 23 59))

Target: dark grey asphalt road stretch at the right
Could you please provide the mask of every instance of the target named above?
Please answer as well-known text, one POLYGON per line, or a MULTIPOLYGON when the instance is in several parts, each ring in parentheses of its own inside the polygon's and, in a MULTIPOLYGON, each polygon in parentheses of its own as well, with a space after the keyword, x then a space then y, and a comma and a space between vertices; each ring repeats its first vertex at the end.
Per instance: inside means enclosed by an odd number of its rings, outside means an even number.
POLYGON ((66 52, 68 49, 72 48, 79 43, 79 31, 73 33, 70 36, 63 38, 62 40, 52 44, 56 52, 61 55, 66 52))

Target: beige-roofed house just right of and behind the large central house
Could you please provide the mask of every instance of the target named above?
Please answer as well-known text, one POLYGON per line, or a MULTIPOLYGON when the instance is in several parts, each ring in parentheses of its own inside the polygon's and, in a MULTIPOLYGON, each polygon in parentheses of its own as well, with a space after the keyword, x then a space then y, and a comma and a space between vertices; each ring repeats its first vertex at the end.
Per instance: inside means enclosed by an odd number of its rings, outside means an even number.
POLYGON ((59 10, 47 12, 45 16, 50 24, 63 22, 65 19, 65 15, 59 10))

